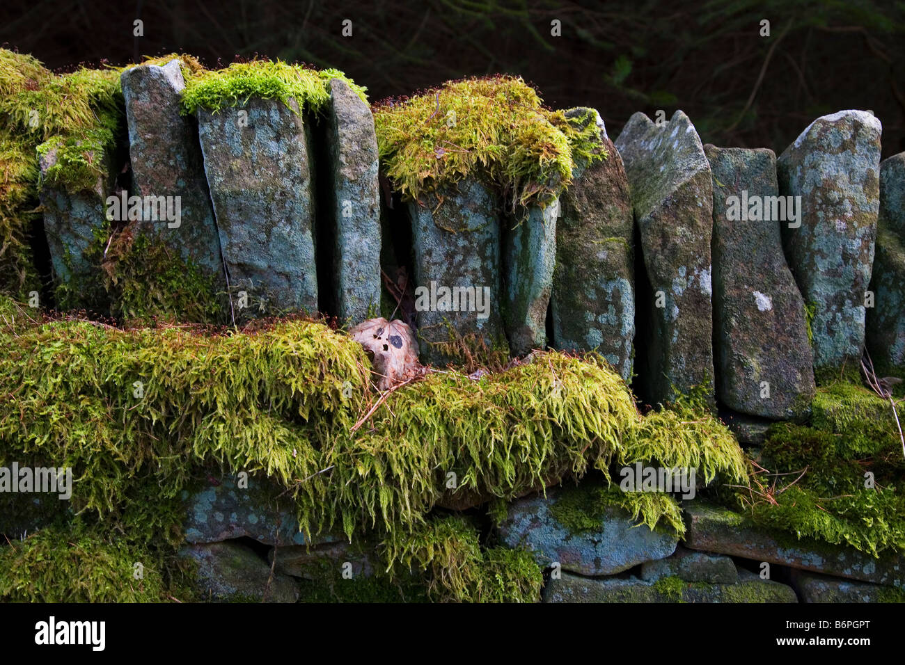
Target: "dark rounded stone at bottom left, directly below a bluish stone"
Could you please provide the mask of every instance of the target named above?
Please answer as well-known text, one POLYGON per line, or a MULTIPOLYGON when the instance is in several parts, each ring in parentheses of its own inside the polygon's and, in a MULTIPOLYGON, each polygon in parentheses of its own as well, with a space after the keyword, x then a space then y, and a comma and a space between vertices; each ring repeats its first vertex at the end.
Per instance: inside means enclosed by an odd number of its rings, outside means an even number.
POLYGON ((197 563, 197 584, 214 601, 295 603, 299 586, 291 577, 274 574, 251 547, 233 541, 190 545, 182 549, 197 563))

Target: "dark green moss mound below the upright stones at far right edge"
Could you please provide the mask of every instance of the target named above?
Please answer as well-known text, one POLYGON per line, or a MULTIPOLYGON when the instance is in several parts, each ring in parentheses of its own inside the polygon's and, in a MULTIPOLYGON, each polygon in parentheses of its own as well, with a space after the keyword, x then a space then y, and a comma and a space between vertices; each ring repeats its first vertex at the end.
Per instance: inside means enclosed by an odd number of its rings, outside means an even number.
POLYGON ((860 385, 819 388, 810 427, 776 423, 752 490, 736 499, 760 525, 877 555, 905 551, 905 489, 889 402, 860 385))

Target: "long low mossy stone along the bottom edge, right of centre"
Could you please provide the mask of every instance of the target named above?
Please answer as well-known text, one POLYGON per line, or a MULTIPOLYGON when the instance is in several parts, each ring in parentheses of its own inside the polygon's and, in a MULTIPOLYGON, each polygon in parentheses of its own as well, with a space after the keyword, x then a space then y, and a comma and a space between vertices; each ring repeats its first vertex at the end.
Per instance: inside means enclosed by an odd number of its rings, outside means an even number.
POLYGON ((739 571, 736 584, 669 585, 637 577, 594 579, 564 573, 544 587, 544 603, 797 603, 786 584, 739 571))

